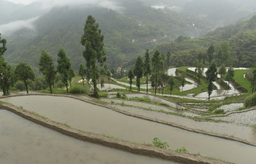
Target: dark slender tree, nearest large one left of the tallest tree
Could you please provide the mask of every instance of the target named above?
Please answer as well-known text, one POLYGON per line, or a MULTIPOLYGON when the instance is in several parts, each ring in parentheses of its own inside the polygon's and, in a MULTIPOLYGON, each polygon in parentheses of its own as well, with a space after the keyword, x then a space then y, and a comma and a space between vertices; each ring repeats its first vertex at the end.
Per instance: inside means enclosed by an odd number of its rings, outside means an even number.
POLYGON ((63 82, 63 84, 65 84, 68 93, 68 80, 71 62, 63 48, 60 48, 58 52, 57 63, 57 70, 63 75, 61 81, 63 82))

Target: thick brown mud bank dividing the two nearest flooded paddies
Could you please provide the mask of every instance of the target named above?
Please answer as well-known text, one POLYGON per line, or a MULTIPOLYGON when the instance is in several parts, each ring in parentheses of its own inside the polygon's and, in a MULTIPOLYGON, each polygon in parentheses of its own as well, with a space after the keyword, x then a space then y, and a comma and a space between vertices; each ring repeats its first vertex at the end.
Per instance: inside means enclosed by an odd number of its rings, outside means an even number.
POLYGON ((49 119, 44 119, 42 117, 35 116, 33 114, 30 114, 29 112, 26 112, 20 108, 17 108, 13 105, 6 103, 1 103, 0 108, 13 112, 18 116, 23 117, 24 119, 28 119, 29 121, 50 128, 51 130, 58 131, 64 135, 77 138, 79 140, 83 140, 86 142, 104 145, 106 147, 111 147, 114 149, 120 149, 122 151, 127 151, 129 153, 140 154, 143 156, 150 156, 153 158, 175 161, 179 163, 225 163, 223 161, 212 160, 194 154, 184 154, 176 151, 160 149, 158 147, 153 147, 152 145, 134 144, 131 142, 117 140, 115 138, 104 137, 102 135, 97 135, 94 133, 87 133, 84 131, 75 130, 73 128, 68 128, 63 124, 50 121, 49 119))

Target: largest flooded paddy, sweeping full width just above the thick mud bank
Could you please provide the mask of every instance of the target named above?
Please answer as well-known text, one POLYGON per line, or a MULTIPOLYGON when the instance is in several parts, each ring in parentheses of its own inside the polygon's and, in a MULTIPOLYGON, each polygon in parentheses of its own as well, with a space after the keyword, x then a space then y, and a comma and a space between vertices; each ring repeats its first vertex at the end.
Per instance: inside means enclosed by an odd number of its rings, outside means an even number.
POLYGON ((72 98, 17 96, 2 100, 17 106, 22 105, 26 110, 32 110, 53 121, 69 124, 78 130, 105 133, 137 143, 152 143, 153 138, 158 137, 168 142, 173 150, 184 146, 189 153, 200 153, 202 156, 236 163, 254 163, 256 160, 254 146, 125 116, 108 108, 72 98))

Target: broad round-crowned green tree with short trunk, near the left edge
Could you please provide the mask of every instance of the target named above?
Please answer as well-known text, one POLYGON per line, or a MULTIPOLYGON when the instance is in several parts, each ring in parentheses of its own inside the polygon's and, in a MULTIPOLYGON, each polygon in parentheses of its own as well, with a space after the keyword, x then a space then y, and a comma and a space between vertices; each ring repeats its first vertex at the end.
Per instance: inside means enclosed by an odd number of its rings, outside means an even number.
POLYGON ((14 73, 19 80, 22 80, 24 82, 26 86, 26 91, 28 93, 28 79, 35 79, 35 73, 32 70, 31 66, 29 66, 29 64, 27 63, 20 62, 19 64, 17 64, 14 73))

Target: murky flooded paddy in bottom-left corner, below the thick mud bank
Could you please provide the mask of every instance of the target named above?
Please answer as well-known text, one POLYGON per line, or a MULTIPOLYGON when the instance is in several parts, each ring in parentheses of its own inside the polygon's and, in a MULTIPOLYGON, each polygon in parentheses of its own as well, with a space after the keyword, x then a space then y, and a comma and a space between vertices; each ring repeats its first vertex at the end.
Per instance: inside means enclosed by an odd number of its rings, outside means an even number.
POLYGON ((173 163, 67 137, 0 110, 0 163, 173 163))

